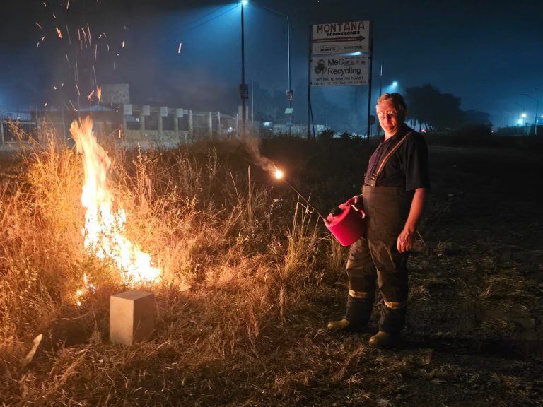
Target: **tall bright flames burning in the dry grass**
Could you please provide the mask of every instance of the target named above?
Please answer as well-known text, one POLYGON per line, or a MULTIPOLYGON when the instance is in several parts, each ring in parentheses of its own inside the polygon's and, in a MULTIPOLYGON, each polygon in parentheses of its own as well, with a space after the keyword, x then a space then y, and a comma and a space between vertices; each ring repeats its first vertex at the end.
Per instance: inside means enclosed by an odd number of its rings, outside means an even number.
POLYGON ((124 283, 156 281, 160 269, 151 266, 151 256, 123 235, 127 221, 124 209, 112 210, 113 195, 106 185, 111 160, 96 141, 91 117, 72 122, 70 133, 78 153, 83 154, 85 184, 81 202, 86 213, 81 232, 85 247, 98 259, 113 261, 122 272, 124 283))

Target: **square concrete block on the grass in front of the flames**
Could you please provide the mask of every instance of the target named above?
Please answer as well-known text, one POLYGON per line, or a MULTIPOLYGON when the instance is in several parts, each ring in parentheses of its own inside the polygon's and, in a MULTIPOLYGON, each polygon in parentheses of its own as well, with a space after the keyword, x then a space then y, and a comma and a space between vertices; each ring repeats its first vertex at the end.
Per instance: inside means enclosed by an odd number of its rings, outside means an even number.
POLYGON ((131 345, 154 328, 155 297, 145 291, 124 291, 110 297, 110 341, 131 345))

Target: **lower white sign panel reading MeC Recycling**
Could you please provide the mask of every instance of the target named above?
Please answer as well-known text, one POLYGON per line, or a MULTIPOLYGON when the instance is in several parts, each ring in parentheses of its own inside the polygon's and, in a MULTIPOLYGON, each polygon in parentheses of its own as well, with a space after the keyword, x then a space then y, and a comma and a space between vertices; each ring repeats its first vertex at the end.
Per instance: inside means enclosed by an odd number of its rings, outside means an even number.
POLYGON ((368 83, 368 57, 313 56, 311 59, 311 85, 366 85, 368 83))

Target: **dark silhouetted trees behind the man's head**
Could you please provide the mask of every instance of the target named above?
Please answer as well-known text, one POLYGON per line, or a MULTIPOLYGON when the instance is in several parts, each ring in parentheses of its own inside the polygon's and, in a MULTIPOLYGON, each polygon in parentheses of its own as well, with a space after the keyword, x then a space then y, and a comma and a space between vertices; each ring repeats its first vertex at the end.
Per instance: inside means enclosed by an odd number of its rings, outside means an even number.
POLYGON ((406 88, 408 120, 427 130, 449 130, 465 126, 491 126, 490 115, 477 110, 461 110, 460 98, 451 93, 440 93, 433 85, 406 88))

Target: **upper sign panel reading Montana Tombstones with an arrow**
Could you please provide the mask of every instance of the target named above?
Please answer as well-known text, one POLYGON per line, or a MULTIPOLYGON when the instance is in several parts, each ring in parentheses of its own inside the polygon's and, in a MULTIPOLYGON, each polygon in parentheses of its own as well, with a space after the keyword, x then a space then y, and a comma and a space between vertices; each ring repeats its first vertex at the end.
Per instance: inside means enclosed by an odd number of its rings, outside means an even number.
POLYGON ((369 52, 369 39, 369 21, 315 24, 313 25, 311 54, 369 52))

